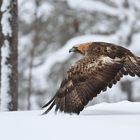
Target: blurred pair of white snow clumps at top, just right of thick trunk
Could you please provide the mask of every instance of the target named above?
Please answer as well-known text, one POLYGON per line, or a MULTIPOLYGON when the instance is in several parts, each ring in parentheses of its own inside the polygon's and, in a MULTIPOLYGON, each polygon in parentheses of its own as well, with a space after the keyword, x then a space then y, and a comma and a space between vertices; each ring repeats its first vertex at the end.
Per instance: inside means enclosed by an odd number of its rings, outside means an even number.
POLYGON ((53 5, 51 5, 47 1, 40 2, 39 6, 36 5, 34 0, 19 0, 18 7, 19 7, 19 15, 20 19, 23 20, 27 24, 31 24, 35 20, 35 14, 37 18, 41 17, 41 20, 45 21, 50 16, 51 12, 53 11, 53 5))

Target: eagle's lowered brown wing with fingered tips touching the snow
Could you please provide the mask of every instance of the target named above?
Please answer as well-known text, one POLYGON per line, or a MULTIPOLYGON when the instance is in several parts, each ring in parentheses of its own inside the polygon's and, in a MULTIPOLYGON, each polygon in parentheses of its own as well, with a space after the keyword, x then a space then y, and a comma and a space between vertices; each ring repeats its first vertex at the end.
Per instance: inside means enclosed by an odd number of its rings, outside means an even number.
POLYGON ((53 99, 44 105, 46 107, 51 103, 44 113, 56 105, 56 111, 59 109, 79 114, 93 97, 109 85, 122 68, 123 60, 120 58, 100 56, 79 60, 68 70, 53 99))

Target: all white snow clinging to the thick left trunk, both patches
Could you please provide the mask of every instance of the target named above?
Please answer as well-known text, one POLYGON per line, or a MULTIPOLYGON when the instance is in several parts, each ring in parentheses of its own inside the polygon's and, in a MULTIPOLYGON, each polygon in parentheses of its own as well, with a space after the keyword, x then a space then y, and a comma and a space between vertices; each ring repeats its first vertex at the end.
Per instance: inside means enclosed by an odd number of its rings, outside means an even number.
MULTIPOLYGON (((5 37, 12 36, 12 30, 10 25, 11 14, 10 14, 10 2, 11 0, 3 0, 1 11, 2 13, 2 33, 5 37)), ((7 59, 10 55, 10 46, 8 40, 4 40, 3 46, 1 47, 2 60, 1 60, 1 110, 8 110, 8 103, 10 102, 9 97, 9 76, 11 74, 11 66, 7 64, 7 59)))

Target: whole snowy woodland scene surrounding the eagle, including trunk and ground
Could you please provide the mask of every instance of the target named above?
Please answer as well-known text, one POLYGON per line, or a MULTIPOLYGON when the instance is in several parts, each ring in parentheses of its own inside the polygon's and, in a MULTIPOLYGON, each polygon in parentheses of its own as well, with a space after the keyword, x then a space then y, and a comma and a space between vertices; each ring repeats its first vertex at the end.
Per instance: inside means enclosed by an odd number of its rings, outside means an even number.
POLYGON ((0 0, 0 139, 140 140, 140 78, 124 77, 79 116, 41 115, 81 57, 73 45, 105 41, 140 56, 139 40, 140 0, 0 0))

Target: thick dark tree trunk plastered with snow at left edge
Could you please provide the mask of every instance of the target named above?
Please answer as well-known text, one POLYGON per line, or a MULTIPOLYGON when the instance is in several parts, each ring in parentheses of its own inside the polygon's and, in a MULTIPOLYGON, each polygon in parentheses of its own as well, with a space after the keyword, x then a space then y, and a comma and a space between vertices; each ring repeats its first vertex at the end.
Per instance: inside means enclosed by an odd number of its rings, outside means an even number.
POLYGON ((17 110, 17 0, 2 0, 1 110, 17 110))

